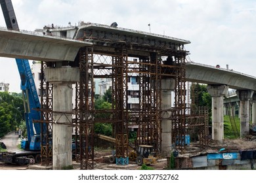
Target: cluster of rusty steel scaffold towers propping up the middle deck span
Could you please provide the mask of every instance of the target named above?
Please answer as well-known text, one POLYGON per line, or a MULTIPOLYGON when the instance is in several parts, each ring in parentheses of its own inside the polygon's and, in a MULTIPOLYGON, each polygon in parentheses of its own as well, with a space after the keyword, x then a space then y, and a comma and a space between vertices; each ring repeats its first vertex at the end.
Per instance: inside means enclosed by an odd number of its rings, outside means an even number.
POLYGON ((184 50, 172 51, 169 54, 150 52, 148 57, 137 56, 139 61, 134 61, 129 58, 123 48, 117 48, 113 53, 93 51, 93 48, 88 47, 81 48, 79 52, 80 80, 76 84, 77 92, 73 115, 77 147, 74 154, 78 155, 76 161, 81 163, 81 169, 93 169, 95 145, 93 124, 97 122, 113 124, 117 158, 128 156, 129 122, 139 126, 137 145, 150 144, 154 146, 155 154, 160 155, 161 120, 166 120, 166 118, 162 118, 163 111, 161 110, 161 78, 175 78, 177 93, 175 109, 169 109, 171 116, 168 118, 173 120, 174 137, 185 133, 183 128, 186 107, 184 67, 182 67, 185 56, 186 51, 184 50), (175 61, 165 63, 167 56, 174 56, 175 61), (128 107, 127 80, 131 74, 138 76, 139 108, 128 107), (94 108, 93 78, 110 78, 112 80, 112 109, 96 110, 94 108), (100 117, 95 118, 95 116, 100 117))

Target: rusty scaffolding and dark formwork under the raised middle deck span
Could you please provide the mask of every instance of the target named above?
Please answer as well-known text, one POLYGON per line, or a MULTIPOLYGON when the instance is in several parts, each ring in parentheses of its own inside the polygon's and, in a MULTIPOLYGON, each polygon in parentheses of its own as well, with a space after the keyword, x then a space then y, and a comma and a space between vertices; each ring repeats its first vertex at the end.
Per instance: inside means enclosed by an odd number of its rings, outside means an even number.
MULTIPOLYGON (((75 159, 81 163, 81 169, 94 168, 94 124, 109 123, 113 127, 113 137, 116 138, 117 158, 128 157, 129 124, 138 125, 137 145, 150 144, 154 153, 161 154, 161 122, 172 122, 172 143, 177 148, 185 147, 185 135, 190 128, 200 121, 200 139, 207 135, 207 115, 200 110, 200 117, 186 115, 186 76, 185 60, 188 51, 181 43, 165 42, 139 38, 134 35, 124 36, 108 31, 86 29, 80 41, 91 41, 91 46, 80 48, 77 56, 80 78, 75 84, 75 107, 73 125, 75 128, 75 159), (127 43, 129 42, 129 43, 127 43), (137 77, 139 85, 139 107, 129 107, 130 76, 137 77), (112 108, 95 108, 95 78, 108 78, 112 82, 112 108), (174 107, 162 109, 162 80, 175 80, 174 107), (167 115, 165 115, 167 114, 167 115), (203 121, 203 123, 202 123, 203 121), (203 124, 203 125, 202 125, 203 124)), ((51 91, 45 86, 46 91, 51 91)), ((52 93, 46 93, 47 111, 51 111, 52 93), (48 96, 49 95, 49 96, 48 96), (51 101, 51 102, 50 102, 51 101)), ((44 105, 43 105, 44 106, 44 105)), ((42 112, 45 108, 41 109, 42 112)), ((51 112, 50 112, 51 113, 51 112)), ((51 124, 51 115, 45 113, 51 124)), ((43 122, 42 120, 42 122, 43 122)), ((49 125, 48 124, 48 125, 49 125)), ((47 127, 51 131, 51 127, 47 127)), ((47 137, 49 137, 48 132, 47 137)), ((200 141, 202 145, 207 142, 200 141)), ((51 161, 47 146, 42 151, 42 157, 51 161), (47 153, 45 153, 47 152, 47 153), (44 155, 43 155, 44 154, 44 155)))

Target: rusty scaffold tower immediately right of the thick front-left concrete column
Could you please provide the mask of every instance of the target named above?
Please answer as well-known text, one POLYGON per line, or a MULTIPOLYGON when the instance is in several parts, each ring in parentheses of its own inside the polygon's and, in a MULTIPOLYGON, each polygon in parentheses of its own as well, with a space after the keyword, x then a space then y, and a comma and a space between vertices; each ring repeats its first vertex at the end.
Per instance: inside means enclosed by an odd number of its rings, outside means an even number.
POLYGON ((79 51, 79 82, 75 95, 75 155, 81 169, 93 169, 94 159, 94 87, 92 48, 79 51))

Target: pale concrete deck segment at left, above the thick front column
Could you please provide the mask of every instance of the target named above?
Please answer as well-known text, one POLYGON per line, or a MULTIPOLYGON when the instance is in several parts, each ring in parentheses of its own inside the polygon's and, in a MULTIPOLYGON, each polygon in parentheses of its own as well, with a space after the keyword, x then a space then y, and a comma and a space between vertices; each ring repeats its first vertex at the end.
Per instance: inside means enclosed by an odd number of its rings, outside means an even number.
POLYGON ((39 61, 74 61, 79 48, 91 42, 0 28, 0 57, 39 61))

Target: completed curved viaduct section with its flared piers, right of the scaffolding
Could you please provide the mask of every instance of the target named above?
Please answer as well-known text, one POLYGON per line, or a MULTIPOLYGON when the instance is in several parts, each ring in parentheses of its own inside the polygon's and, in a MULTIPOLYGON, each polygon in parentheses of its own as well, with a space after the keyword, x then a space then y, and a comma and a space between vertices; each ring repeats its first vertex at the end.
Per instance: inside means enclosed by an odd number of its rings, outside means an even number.
POLYGON ((186 63, 185 67, 186 80, 208 85, 207 90, 212 96, 213 139, 217 141, 224 139, 223 103, 224 95, 228 92, 228 88, 236 90, 237 99, 240 101, 240 137, 249 135, 250 102, 253 103, 253 116, 256 114, 254 94, 256 91, 256 78, 236 71, 200 63, 186 63))

